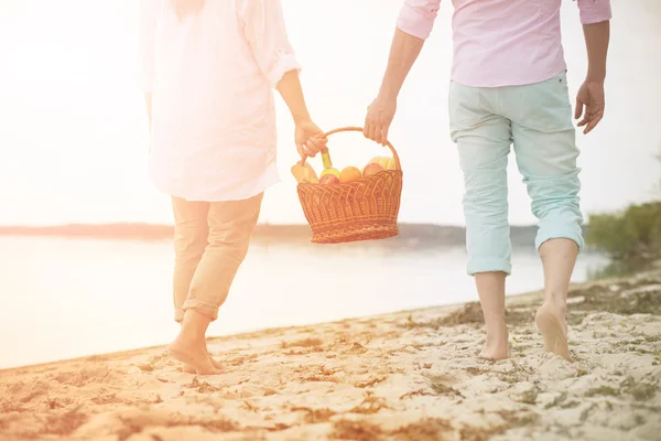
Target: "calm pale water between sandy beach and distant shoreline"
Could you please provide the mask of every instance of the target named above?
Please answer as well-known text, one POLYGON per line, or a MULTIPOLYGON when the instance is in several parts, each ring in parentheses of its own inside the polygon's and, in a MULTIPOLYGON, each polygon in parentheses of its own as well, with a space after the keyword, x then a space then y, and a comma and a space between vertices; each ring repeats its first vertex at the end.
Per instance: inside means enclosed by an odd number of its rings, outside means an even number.
MULTIPOLYGON (((170 241, 0 237, 0 368, 167 343, 170 241)), ((253 244, 209 335, 477 300, 459 247, 253 244)), ((606 260, 581 256, 574 281, 606 260)), ((516 251, 508 294, 539 289, 534 250, 516 251)))

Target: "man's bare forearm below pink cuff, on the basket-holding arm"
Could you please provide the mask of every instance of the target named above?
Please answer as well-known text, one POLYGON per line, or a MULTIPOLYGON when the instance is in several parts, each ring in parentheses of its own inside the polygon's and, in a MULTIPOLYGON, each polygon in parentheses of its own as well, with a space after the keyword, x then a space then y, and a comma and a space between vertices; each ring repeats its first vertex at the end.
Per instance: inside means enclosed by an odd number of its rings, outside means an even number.
POLYGON ((388 67, 386 68, 379 90, 380 96, 393 99, 398 97, 423 45, 424 40, 410 35, 399 29, 394 31, 388 67))

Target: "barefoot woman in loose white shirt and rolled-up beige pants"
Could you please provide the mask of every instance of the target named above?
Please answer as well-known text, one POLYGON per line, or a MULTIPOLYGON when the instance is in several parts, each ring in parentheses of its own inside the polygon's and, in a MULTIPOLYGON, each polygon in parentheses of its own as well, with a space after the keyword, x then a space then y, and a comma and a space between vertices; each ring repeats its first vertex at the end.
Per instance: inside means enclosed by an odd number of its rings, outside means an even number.
POLYGON ((291 110, 299 153, 325 148, 307 111, 279 0, 141 0, 150 174, 172 196, 170 345, 186 372, 219 373, 205 333, 217 319, 278 181, 272 88, 291 110))

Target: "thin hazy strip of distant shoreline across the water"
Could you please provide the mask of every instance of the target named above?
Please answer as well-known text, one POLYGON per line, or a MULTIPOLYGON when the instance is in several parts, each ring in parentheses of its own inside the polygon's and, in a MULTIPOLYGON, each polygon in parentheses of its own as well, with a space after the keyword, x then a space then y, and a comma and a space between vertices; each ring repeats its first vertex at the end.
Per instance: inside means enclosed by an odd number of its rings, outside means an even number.
MULTIPOLYGON (((55 226, 0 226, 0 236, 62 237, 109 240, 165 240, 173 236, 172 225, 159 224, 69 224, 55 226)), ((434 224, 400 224, 400 235, 380 240, 383 246, 434 248, 463 246, 465 227, 434 224)), ((537 226, 512 226, 511 239, 516 246, 532 246, 537 226)), ((257 243, 307 244, 311 233, 307 225, 260 224, 254 232, 257 243)))

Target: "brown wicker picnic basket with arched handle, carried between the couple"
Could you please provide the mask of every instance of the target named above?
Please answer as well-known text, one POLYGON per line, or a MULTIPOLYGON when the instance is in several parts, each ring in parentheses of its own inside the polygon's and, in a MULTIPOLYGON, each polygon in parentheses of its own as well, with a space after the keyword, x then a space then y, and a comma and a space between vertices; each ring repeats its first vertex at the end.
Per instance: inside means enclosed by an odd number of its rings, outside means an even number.
MULTIPOLYGON (((330 135, 359 131, 358 127, 332 130, 330 135)), ((399 234, 397 217, 402 193, 402 170, 394 147, 397 170, 384 170, 358 181, 335 185, 300 183, 299 200, 315 244, 340 244, 383 239, 399 234)))

